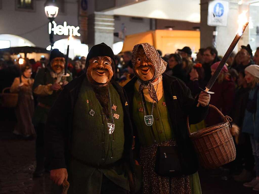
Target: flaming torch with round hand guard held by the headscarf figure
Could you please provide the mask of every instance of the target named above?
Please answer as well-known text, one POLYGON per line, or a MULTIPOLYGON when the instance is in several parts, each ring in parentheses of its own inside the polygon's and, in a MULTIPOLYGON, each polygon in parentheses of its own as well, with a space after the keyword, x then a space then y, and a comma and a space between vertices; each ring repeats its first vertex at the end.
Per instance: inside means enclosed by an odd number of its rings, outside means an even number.
MULTIPOLYGON (((208 82, 205 90, 203 90, 204 92, 210 93, 210 94, 214 94, 214 92, 209 92, 209 90, 211 89, 211 87, 213 86, 214 82, 216 81, 216 79, 218 78, 222 68, 224 67, 227 59, 229 58, 229 56, 231 55, 232 51, 234 50, 236 44, 238 43, 239 39, 241 38, 241 36, 243 35, 246 27, 248 26, 248 22, 247 22, 247 18, 246 18, 246 12, 247 11, 243 11, 239 16, 238 16, 238 32, 234 38, 234 40, 232 41, 232 43, 230 44, 229 48, 227 49, 224 57, 221 59, 219 66, 217 67, 217 69, 215 70, 215 72, 213 73, 210 81, 208 82)), ((200 103, 197 104, 197 107, 200 106, 200 103)))

